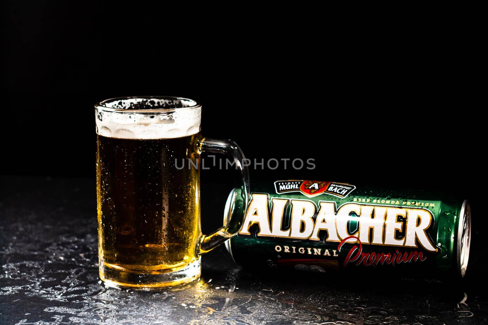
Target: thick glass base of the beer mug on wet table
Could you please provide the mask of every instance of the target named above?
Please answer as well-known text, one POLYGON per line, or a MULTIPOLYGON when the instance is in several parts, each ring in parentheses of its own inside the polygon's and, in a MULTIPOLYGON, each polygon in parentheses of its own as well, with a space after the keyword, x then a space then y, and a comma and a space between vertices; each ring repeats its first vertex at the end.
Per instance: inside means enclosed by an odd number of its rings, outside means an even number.
POLYGON ((188 284, 200 278, 202 273, 201 258, 174 271, 142 273, 140 271, 102 264, 100 278, 107 287, 157 290, 188 284))

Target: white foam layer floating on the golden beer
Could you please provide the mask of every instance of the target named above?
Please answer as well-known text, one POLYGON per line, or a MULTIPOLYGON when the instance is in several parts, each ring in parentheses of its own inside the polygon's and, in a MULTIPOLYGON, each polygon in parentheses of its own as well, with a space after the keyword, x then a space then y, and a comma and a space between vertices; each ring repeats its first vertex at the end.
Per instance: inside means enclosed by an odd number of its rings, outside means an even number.
MULTIPOLYGON (((134 103, 135 100, 130 99, 130 101, 134 103)), ((104 103, 103 106, 119 108, 121 101, 118 103, 118 106, 110 105, 111 103, 104 103)), ((171 139, 200 131, 202 107, 176 108, 170 112, 141 114, 107 112, 99 106, 95 114, 99 135, 120 139, 171 139)))

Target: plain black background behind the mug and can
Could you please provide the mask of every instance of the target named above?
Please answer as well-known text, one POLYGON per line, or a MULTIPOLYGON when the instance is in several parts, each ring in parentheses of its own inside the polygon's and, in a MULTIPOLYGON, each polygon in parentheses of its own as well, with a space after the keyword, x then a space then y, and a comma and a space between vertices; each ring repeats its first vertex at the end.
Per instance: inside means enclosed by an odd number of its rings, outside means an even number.
MULTIPOLYGON (((315 159, 313 171, 251 170, 251 188, 280 178, 436 188, 480 211, 476 19, 6 6, 3 174, 94 178, 93 104, 183 96, 203 104, 205 136, 235 140, 251 160, 315 159)), ((203 187, 230 176, 205 171, 203 187)))

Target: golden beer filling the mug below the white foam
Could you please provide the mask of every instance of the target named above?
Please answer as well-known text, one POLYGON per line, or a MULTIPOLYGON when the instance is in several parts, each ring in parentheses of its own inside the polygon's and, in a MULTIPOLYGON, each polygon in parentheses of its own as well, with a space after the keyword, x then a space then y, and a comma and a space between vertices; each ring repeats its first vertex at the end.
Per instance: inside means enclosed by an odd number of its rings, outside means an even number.
POLYGON ((136 286, 141 282, 147 287, 152 275, 184 269, 199 258, 198 170, 187 164, 181 170, 175 166, 175 159, 180 165, 187 159, 199 161, 192 148, 197 136, 149 140, 97 136, 103 281, 136 286))

